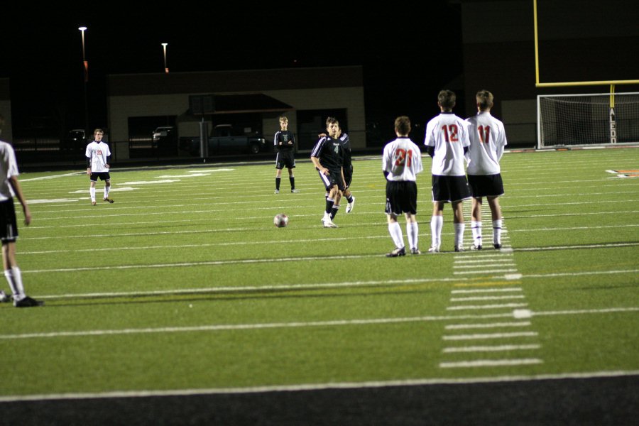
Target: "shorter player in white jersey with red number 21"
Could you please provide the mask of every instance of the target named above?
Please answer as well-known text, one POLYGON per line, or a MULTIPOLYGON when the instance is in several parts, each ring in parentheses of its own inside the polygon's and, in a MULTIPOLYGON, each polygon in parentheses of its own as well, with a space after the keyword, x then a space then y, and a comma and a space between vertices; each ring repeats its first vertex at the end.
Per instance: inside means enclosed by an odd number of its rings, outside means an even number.
POLYGON ((384 146, 382 170, 386 176, 386 217, 388 233, 395 243, 395 249, 387 257, 405 256, 406 249, 402 229, 397 217, 404 213, 406 217, 406 235, 410 253, 420 254, 417 248, 419 228, 417 226, 417 173, 422 170, 420 148, 408 138, 410 119, 399 116, 395 119, 397 139, 384 146))

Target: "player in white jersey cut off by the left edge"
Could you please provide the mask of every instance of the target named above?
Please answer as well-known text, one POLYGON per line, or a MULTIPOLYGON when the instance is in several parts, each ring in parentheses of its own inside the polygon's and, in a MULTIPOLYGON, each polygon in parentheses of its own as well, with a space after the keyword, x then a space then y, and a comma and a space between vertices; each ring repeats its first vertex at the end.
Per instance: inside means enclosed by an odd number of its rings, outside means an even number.
MULTIPOLYGON (((0 133, 4 127, 4 118, 0 116, 0 133)), ((22 273, 16 262, 16 239, 18 239, 18 225, 16 221, 16 207, 13 197, 22 205, 24 224, 31 223, 31 212, 18 183, 18 163, 13 147, 0 141, 0 240, 2 241, 2 264, 4 277, 13 293, 13 306, 35 307, 44 303, 28 297, 24 293, 22 273)), ((0 290, 0 302, 9 302, 9 296, 0 290)))

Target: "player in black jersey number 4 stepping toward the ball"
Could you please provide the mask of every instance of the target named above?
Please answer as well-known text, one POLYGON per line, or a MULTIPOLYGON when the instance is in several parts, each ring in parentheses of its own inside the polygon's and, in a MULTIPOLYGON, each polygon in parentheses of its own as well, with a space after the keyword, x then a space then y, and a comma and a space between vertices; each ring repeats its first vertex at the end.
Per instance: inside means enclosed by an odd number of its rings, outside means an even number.
POLYGON ((331 216, 334 217, 339 209, 339 201, 346 189, 344 182, 344 148, 339 141, 339 122, 334 117, 326 120, 328 136, 321 137, 311 151, 311 161, 315 169, 320 173, 320 179, 328 192, 326 197, 326 209, 324 210, 324 228, 337 228, 331 216), (333 212, 333 214, 332 214, 333 212))

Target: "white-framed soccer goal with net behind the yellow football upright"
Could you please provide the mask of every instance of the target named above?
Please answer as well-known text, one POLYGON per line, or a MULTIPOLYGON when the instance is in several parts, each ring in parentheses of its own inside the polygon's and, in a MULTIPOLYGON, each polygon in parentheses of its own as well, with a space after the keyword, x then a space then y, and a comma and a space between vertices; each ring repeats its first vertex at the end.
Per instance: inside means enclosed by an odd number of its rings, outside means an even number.
POLYGON ((537 148, 639 143, 639 92, 537 96, 537 148))

